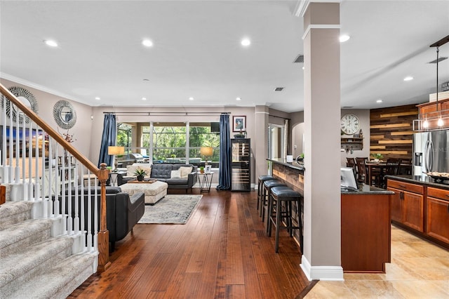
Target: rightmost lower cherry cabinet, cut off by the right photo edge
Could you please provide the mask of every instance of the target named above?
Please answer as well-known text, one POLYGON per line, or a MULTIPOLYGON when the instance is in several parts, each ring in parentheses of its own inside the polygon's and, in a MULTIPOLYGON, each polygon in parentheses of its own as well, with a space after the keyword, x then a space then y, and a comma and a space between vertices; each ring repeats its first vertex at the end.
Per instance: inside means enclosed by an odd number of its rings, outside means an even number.
POLYGON ((449 191, 427 187, 426 233, 449 244, 449 191))

